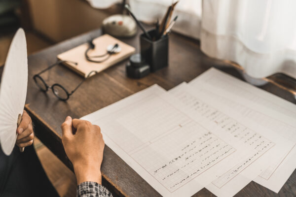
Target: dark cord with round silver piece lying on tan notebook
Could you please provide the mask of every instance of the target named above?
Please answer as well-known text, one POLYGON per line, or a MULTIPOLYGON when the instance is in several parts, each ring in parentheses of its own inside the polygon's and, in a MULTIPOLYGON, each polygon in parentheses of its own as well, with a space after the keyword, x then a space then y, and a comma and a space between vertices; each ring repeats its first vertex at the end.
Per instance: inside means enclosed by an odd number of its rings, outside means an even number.
POLYGON ((89 62, 94 62, 94 63, 102 63, 102 62, 105 62, 106 60, 108 60, 111 55, 113 54, 116 54, 116 53, 119 53, 121 51, 121 47, 116 43, 114 45, 109 45, 107 47, 107 52, 105 54, 102 54, 102 55, 95 55, 95 56, 89 56, 87 53, 89 50, 91 49, 95 49, 95 44, 93 43, 93 40, 90 40, 88 42, 89 46, 88 48, 86 49, 84 55, 85 55, 85 58, 86 60, 88 60, 89 62), (93 60, 93 58, 103 58, 103 57, 106 57, 105 59, 103 60, 93 60))

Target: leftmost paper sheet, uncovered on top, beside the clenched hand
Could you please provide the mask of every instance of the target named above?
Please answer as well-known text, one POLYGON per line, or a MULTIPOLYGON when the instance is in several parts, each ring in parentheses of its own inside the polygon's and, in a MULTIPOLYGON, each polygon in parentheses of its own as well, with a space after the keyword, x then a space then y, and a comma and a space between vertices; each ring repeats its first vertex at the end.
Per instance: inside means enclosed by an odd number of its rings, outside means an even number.
POLYGON ((154 85, 82 119, 100 125, 106 144, 162 196, 189 197, 250 152, 192 121, 163 92, 154 85))

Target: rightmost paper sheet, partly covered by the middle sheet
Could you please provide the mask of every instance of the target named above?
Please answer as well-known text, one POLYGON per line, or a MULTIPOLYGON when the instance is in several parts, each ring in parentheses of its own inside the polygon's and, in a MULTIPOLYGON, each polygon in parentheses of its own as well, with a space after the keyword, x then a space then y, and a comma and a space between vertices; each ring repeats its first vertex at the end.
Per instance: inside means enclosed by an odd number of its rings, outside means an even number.
MULTIPOLYGON (((189 83, 211 91, 213 97, 242 115, 258 122, 261 126, 276 131, 282 136, 296 141, 296 106, 284 99, 244 83, 217 69, 211 68, 189 83), (223 96, 223 97, 222 97, 223 96), (228 99, 228 102, 225 100, 228 99), (230 101, 231 100, 231 101, 230 101), (239 104, 233 106, 233 101, 239 104), (243 105, 244 104, 244 105, 243 105)), ((254 179, 257 183, 278 193, 296 167, 296 146, 267 166, 254 179), (289 155, 288 155, 289 154, 289 155)))

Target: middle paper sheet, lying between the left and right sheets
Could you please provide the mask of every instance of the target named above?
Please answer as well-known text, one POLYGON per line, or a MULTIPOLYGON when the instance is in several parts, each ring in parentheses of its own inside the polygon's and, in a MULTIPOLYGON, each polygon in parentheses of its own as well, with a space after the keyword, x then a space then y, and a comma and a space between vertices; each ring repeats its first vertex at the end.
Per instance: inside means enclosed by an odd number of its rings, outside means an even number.
MULTIPOLYGON (((267 155, 272 155, 272 159, 264 157, 262 154, 258 154, 256 158, 248 158, 247 163, 236 164, 228 170, 226 173, 221 175, 218 179, 212 182, 209 189, 212 193, 217 196, 233 196, 243 187, 245 187, 250 181, 252 181, 270 161, 276 160, 277 157, 282 157, 288 152, 293 142, 271 132, 268 129, 260 127, 258 124, 250 120, 248 117, 240 118, 233 109, 225 107, 219 98, 213 96, 210 92, 201 91, 200 89, 192 88, 187 86, 185 83, 175 87, 169 91, 172 95, 178 98, 183 104, 184 108, 190 117, 198 118, 199 114, 204 114, 209 121, 216 123, 221 128, 224 128, 226 132, 231 133, 237 138, 241 144, 248 145, 254 148, 254 151, 258 148, 258 144, 249 143, 248 139, 250 136, 258 138, 258 142, 264 137, 266 139, 272 139, 276 144, 267 155), (206 107, 201 107, 206 105, 206 107), (187 109, 186 109, 187 107, 187 109), (205 108, 201 110, 202 108, 205 108), (217 110, 219 109, 219 111, 217 110), (245 124, 247 127, 244 127, 245 124), (258 170, 257 166, 261 166, 258 170)), ((230 103, 231 105, 232 103, 230 103)), ((198 118, 199 119, 199 118, 198 118)), ((231 165, 231 164, 229 164, 231 165)))

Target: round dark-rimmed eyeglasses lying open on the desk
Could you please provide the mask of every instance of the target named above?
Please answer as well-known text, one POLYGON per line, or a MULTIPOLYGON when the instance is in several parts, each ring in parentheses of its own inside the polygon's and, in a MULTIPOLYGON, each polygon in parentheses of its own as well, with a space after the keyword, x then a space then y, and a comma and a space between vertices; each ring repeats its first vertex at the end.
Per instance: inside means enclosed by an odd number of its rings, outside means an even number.
POLYGON ((58 83, 55 83, 53 84, 52 86, 48 86, 44 79, 40 76, 40 74, 42 74, 43 72, 51 69, 52 67, 56 66, 56 65, 59 65, 61 63, 64 63, 64 62, 69 62, 69 63, 72 63, 74 65, 77 65, 77 63, 75 62, 71 62, 71 61, 58 61, 56 62, 55 64, 51 65, 51 66, 48 66, 47 68, 45 68, 44 70, 42 70, 41 72, 37 73, 36 75, 33 76, 33 79, 36 83, 36 85, 40 88, 41 91, 43 92, 47 92, 48 89, 51 89, 53 94, 60 100, 68 100, 69 97, 71 95, 73 95, 73 93, 79 88, 79 86, 81 86, 81 84, 92 74, 92 73, 97 73, 97 71, 93 70, 91 71, 88 75, 87 75, 87 78, 84 78, 77 86, 76 88, 71 91, 70 93, 66 90, 66 88, 64 88, 61 84, 58 84, 58 83))

